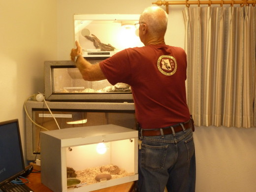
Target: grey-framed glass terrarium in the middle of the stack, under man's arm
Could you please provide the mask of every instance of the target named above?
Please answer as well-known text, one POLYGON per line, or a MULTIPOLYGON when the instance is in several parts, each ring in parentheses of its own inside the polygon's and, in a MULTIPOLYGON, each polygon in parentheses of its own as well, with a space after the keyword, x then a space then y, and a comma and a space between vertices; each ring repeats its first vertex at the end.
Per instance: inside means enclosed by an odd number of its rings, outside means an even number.
MULTIPOLYGON (((92 64, 102 60, 91 60, 92 64)), ((44 64, 46 100, 132 101, 128 84, 111 85, 106 79, 85 81, 72 61, 46 61, 44 64)))

